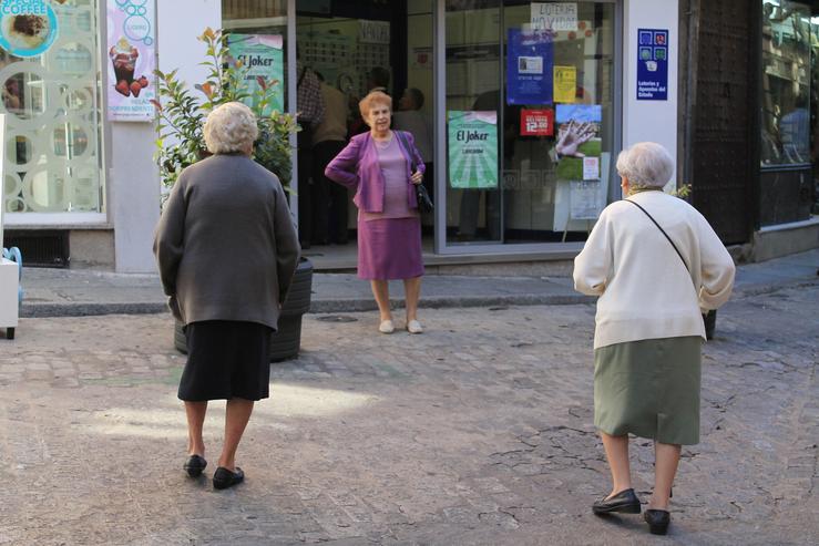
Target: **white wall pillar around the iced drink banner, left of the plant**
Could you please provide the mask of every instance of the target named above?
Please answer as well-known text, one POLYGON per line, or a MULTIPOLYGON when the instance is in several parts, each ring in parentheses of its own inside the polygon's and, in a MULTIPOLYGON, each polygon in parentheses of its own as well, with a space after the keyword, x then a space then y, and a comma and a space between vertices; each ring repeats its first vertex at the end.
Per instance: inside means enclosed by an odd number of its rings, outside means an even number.
MULTIPOLYGON (((203 81, 205 69, 198 63, 205 51, 196 37, 206 27, 221 25, 221 0, 156 0, 160 69, 178 68, 182 80, 192 85, 203 81)), ((160 218, 160 174, 153 161, 154 124, 112 122, 110 135, 109 203, 114 222, 116 270, 153 272, 156 270, 153 231, 160 218)))

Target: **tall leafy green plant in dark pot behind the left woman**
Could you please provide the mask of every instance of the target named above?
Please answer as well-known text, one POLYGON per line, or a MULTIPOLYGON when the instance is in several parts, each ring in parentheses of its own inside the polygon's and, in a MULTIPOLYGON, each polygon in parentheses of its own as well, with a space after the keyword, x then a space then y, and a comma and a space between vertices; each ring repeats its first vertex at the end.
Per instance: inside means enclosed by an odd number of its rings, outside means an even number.
MULTIPOLYGON (((182 171, 206 157, 203 124, 207 114, 227 102, 238 101, 250 106, 258 120, 259 137, 254 159, 278 176, 285 190, 290 190, 293 146, 290 135, 299 131, 296 117, 284 112, 267 110, 281 82, 257 78, 258 87, 249 90, 247 68, 229 54, 227 34, 221 30, 205 29, 197 39, 205 44, 207 69, 203 83, 190 87, 173 70, 156 70, 160 100, 153 101, 158 115, 156 125, 156 161, 163 186, 170 188, 182 171)), ((301 316, 309 310, 313 286, 313 264, 303 258, 296 270, 290 292, 281 308, 279 330, 270 339, 270 360, 279 361, 298 354, 301 339, 301 316)), ((174 343, 187 351, 182 324, 176 323, 174 343)))

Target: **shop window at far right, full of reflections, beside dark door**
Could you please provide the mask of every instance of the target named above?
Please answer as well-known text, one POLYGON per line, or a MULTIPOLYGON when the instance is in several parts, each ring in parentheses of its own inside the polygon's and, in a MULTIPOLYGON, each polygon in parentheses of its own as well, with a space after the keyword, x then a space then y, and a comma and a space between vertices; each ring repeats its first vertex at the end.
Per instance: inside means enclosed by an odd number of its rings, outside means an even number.
POLYGON ((810 8, 762 2, 762 166, 810 163, 810 8))

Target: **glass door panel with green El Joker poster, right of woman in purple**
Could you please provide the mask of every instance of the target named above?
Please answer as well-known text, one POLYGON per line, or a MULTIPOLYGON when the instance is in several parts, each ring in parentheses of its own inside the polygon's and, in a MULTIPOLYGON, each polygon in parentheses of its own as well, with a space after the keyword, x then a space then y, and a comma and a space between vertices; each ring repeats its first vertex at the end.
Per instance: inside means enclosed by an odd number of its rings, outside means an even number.
MULTIPOLYGON (((500 168, 505 116, 500 0, 447 2, 446 238, 448 245, 501 244, 500 168)), ((440 216, 439 216, 440 222, 440 216)))

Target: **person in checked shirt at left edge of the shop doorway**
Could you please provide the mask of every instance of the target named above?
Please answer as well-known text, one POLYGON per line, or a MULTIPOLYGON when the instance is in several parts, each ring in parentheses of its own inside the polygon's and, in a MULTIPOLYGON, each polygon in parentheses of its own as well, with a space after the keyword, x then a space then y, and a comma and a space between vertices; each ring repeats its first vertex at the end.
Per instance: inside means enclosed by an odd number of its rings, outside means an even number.
MULTIPOLYGON (((296 50, 298 56, 298 49, 296 50)), ((296 63, 298 80, 296 83, 296 101, 298 107, 298 237, 301 248, 310 248, 313 241, 313 132, 325 117, 325 103, 321 97, 321 84, 316 72, 303 64, 296 63)))

